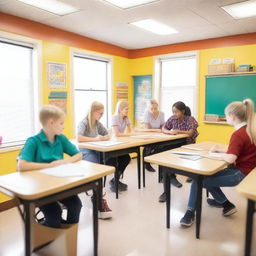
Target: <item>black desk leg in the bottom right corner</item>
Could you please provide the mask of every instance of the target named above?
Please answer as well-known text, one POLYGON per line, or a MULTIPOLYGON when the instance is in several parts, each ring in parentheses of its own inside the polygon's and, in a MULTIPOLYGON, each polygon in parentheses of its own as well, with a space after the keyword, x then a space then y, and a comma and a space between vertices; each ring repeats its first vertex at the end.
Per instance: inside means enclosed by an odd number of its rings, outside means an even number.
POLYGON ((252 244, 252 227, 253 227, 253 214, 255 212, 255 202, 248 199, 247 201, 247 215, 246 215, 246 233, 245 233, 245 256, 251 254, 252 244))

